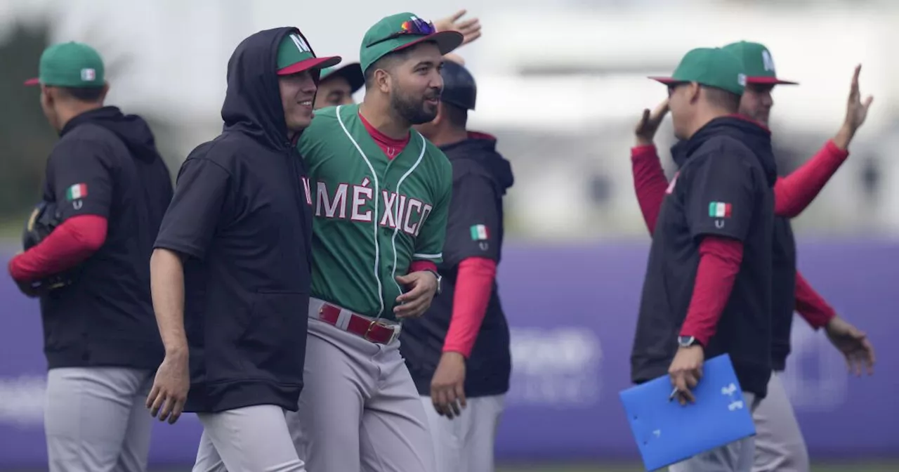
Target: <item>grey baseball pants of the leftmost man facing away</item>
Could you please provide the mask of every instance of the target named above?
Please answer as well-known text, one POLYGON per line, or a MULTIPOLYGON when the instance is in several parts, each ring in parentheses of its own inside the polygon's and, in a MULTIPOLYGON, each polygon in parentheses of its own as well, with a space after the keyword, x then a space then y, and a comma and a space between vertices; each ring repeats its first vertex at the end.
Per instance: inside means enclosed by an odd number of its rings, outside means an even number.
POLYGON ((49 370, 44 431, 50 472, 146 471, 150 381, 148 370, 49 370))

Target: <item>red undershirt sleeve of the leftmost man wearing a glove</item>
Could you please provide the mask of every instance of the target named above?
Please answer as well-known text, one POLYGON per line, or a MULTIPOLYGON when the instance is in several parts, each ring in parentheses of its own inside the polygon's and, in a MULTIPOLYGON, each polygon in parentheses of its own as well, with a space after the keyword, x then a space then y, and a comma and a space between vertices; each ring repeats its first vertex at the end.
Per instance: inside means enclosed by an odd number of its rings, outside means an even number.
POLYGON ((37 281, 67 271, 97 252, 106 241, 106 218, 80 215, 68 218, 40 244, 9 262, 15 281, 37 281))

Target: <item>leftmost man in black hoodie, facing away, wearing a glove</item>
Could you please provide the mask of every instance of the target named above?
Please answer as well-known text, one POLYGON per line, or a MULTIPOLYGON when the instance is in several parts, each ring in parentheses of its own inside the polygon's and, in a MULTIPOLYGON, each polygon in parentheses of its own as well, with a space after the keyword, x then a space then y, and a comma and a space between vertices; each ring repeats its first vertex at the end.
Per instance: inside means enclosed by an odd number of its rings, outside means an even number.
POLYGON ((163 358, 147 259, 172 178, 147 123, 103 106, 108 85, 90 46, 50 46, 26 85, 40 85, 59 132, 43 200, 62 223, 9 272, 26 292, 71 275, 67 286, 40 290, 49 470, 146 470, 152 418, 143 399, 163 358))

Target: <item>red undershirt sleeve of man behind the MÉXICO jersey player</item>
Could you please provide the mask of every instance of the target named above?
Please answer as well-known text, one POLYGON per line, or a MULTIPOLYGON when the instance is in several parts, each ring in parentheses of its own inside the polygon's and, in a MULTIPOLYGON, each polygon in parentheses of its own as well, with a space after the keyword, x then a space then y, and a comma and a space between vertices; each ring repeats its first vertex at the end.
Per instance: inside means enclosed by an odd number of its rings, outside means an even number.
POLYGON ((496 263, 485 257, 468 257, 458 264, 452 317, 443 352, 459 352, 468 358, 487 313, 494 288, 496 263))

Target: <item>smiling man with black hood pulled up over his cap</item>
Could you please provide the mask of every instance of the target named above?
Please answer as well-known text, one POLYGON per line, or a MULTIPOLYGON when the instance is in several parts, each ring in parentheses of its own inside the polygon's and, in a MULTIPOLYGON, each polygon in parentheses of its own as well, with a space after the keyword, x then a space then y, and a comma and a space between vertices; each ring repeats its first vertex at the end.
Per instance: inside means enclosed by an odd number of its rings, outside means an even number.
POLYGON ((178 174, 150 260, 165 360, 147 406, 170 423, 197 413, 194 470, 305 470, 284 419, 303 387, 311 279, 295 143, 320 69, 338 62, 316 58, 296 28, 242 41, 228 61, 224 130, 178 174))

